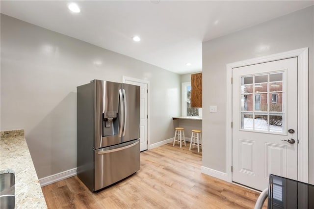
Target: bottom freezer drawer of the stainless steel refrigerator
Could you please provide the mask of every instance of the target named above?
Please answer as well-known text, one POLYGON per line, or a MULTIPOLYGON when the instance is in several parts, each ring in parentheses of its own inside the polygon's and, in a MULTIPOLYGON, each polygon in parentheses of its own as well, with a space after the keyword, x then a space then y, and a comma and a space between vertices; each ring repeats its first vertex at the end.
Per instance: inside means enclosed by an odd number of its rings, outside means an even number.
POLYGON ((94 157, 94 191, 97 191, 139 170, 139 140, 94 150, 94 157))

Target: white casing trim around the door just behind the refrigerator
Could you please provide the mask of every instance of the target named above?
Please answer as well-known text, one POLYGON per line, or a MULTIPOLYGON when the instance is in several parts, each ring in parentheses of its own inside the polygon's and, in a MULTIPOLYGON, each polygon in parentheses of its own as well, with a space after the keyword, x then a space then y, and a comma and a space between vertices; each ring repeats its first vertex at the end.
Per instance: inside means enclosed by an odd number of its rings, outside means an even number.
POLYGON ((151 149, 150 148, 150 144, 151 144, 151 117, 150 117, 150 115, 151 115, 151 97, 150 97, 149 92, 151 92, 151 82, 148 80, 122 76, 122 82, 123 83, 125 83, 127 80, 147 84, 147 115, 148 115, 148 119, 147 119, 147 150, 150 150, 151 149))

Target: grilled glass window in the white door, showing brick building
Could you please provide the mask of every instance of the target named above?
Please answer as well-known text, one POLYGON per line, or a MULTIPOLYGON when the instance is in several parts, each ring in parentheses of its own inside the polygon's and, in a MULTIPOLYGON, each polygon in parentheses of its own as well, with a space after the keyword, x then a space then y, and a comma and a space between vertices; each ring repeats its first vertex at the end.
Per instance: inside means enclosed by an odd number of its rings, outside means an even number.
POLYGON ((285 133, 285 71, 241 77, 241 130, 285 133))

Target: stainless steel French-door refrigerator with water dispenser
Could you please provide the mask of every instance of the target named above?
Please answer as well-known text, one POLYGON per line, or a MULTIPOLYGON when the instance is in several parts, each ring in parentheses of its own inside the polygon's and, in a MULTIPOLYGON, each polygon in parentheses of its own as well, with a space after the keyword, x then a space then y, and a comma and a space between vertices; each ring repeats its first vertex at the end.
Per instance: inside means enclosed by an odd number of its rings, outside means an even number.
POLYGON ((92 80, 77 87, 78 178, 91 191, 140 169, 140 87, 92 80))

